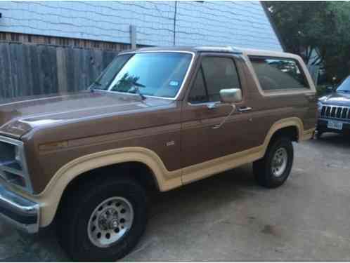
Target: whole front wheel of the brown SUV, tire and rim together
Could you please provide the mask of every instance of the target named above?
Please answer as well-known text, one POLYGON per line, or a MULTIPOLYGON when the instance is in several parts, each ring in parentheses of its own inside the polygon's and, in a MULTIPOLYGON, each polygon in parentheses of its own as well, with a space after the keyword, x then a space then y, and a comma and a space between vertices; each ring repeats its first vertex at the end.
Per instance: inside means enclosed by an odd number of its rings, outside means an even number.
POLYGON ((94 180, 66 198, 58 236, 75 261, 115 261, 127 255, 147 222, 146 196, 134 180, 94 180))

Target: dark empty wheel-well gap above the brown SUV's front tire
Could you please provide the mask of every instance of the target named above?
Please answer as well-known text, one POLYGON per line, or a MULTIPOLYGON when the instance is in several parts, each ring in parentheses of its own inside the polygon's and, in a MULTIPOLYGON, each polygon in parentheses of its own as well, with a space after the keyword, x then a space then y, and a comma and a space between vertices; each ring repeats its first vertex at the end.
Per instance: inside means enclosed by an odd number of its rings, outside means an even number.
MULTIPOLYGON (((134 180, 136 180, 139 184, 141 184, 147 191, 159 191, 159 187, 155 176, 153 175, 152 170, 144 163, 141 162, 127 162, 127 163, 117 163, 111 166, 104 166, 101 168, 96 168, 93 170, 89 170, 86 173, 82 173, 75 177, 68 185, 65 187, 65 191, 60 198, 60 203, 58 205, 58 210, 60 211, 60 207, 65 203, 65 201, 69 201, 68 196, 74 192, 74 189, 77 187, 81 187, 83 184, 91 180, 96 180, 96 176, 99 177, 112 177, 120 175, 127 175, 134 180)), ((102 179, 102 178, 101 178, 102 179)), ((56 217, 55 217, 56 218, 56 217)))

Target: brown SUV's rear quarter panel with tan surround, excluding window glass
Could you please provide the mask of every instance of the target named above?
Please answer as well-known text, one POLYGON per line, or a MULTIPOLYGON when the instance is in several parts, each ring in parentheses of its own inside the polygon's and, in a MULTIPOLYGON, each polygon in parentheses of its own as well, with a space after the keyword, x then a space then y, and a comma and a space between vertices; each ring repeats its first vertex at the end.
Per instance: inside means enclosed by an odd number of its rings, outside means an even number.
MULTIPOLYGON (((271 55, 266 56, 271 57, 271 55)), ((302 121, 304 130, 314 129, 317 117, 316 88, 302 59, 296 55, 286 55, 286 58, 293 58, 299 62, 310 88, 268 92, 261 89, 248 54, 243 55, 243 57, 246 62, 244 69, 247 88, 252 103, 252 105, 247 106, 253 108, 252 119, 255 128, 252 140, 257 140, 256 144, 258 145, 263 144, 273 123, 292 117, 297 117, 302 121)), ((304 130, 302 130, 302 133, 304 133, 304 130)))

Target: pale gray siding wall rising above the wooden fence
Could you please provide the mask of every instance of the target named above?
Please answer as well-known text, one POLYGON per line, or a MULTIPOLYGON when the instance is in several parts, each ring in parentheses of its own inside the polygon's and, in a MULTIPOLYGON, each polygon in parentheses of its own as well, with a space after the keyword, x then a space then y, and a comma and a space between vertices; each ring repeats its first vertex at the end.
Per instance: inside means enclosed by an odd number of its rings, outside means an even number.
POLYGON ((135 25, 140 45, 282 50, 259 1, 2 1, 0 12, 1 32, 130 43, 135 25))

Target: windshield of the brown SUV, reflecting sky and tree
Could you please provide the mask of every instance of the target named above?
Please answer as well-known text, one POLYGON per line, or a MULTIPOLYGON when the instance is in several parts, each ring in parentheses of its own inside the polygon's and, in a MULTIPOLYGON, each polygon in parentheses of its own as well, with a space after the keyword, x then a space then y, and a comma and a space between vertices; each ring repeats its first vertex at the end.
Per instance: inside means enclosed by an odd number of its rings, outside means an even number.
POLYGON ((92 88, 172 98, 183 83, 191 58, 188 53, 119 55, 92 88))

